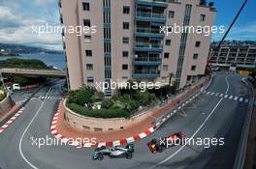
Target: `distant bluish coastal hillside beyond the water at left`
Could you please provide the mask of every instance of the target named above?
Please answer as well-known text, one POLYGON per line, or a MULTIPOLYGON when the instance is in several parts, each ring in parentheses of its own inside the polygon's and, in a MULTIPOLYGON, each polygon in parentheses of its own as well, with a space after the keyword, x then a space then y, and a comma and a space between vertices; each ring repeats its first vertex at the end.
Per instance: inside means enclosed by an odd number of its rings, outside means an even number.
POLYGON ((49 53, 62 54, 63 51, 49 50, 42 47, 26 46, 21 44, 8 44, 0 42, 0 50, 10 50, 13 53, 49 53))

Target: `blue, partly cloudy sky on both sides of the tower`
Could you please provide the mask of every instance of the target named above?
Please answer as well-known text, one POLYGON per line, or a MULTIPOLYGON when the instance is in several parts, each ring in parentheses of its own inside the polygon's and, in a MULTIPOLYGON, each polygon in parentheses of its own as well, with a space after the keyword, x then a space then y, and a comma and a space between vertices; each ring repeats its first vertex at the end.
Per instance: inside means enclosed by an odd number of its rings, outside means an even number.
MULTIPOLYGON (((209 1, 209 0, 208 0, 209 1)), ((213 0, 217 9, 216 26, 227 29, 244 0, 213 0)), ((232 28, 228 40, 256 41, 256 0, 248 0, 247 5, 232 28)), ((39 36, 33 32, 40 25, 59 25, 57 0, 0 0, 0 42, 41 46, 62 50, 60 33, 39 36)), ((223 34, 214 34, 218 41, 223 34)))

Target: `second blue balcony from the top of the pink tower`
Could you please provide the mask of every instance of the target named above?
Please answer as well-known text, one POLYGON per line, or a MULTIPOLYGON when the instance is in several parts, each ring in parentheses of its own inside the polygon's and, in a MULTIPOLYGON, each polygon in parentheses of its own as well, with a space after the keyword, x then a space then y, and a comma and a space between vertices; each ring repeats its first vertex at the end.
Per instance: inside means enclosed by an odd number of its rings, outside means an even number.
POLYGON ((156 14, 156 13, 143 13, 137 12, 136 19, 141 21, 156 21, 156 22, 166 22, 165 14, 156 14))

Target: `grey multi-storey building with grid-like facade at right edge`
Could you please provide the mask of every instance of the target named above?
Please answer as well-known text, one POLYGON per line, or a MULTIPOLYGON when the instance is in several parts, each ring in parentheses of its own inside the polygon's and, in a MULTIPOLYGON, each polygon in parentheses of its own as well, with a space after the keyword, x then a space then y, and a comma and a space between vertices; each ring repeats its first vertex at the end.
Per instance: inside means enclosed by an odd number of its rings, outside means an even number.
POLYGON ((211 45, 210 52, 213 50, 215 55, 210 58, 213 66, 256 69, 256 45, 224 44, 219 49, 217 45, 211 45))

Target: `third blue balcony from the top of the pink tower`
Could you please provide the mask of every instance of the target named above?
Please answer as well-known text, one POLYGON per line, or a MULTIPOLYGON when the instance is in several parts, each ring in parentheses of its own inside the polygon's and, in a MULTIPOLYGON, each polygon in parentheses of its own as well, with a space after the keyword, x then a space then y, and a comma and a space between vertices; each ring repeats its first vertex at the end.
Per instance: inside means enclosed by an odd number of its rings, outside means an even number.
POLYGON ((160 33, 159 29, 153 28, 137 28, 135 35, 138 37, 156 37, 161 39, 165 37, 165 34, 160 33))

